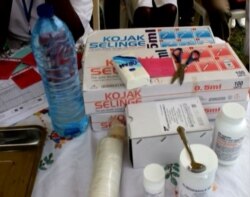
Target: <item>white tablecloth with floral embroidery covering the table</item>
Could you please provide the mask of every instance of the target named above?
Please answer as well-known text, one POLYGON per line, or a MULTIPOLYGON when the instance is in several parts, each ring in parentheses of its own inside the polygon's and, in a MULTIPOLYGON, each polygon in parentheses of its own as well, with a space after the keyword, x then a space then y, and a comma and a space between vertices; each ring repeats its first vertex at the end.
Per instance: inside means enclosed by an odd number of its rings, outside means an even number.
MULTIPOLYGON (((250 105, 248 106, 248 120, 249 118, 250 105)), ((45 122, 47 122, 46 119, 45 122)), ((37 124, 34 122, 34 119, 29 119, 22 123, 37 124)), ((48 131, 50 130, 49 128, 47 129, 48 131)), ((48 140, 45 144, 42 158, 53 152, 54 163, 47 170, 38 171, 32 197, 88 197, 96 146, 105 135, 106 132, 94 132, 89 127, 86 133, 65 142, 61 149, 55 149, 54 143, 48 140)), ((124 150, 120 197, 142 197, 144 196, 143 171, 142 169, 132 168, 129 161, 127 143, 124 150)), ((212 196, 249 197, 249 164, 250 127, 237 163, 228 167, 219 166, 212 196)), ((166 179, 165 188, 166 196, 176 196, 177 188, 171 184, 170 179, 166 179)))

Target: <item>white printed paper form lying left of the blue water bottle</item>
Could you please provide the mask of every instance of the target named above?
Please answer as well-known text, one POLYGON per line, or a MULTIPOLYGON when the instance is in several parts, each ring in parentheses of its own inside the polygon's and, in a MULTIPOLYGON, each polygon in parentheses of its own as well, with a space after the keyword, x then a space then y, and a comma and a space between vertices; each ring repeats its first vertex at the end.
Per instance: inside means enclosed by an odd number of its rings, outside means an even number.
POLYGON ((11 79, 0 80, 0 125, 9 126, 48 106, 42 82, 20 89, 11 79))

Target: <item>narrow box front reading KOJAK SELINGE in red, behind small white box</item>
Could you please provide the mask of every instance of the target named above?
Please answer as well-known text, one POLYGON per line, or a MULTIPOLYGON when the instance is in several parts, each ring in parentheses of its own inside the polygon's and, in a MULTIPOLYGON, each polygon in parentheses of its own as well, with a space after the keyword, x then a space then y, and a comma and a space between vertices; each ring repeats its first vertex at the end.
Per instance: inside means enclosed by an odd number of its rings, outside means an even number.
MULTIPOLYGON (((178 89, 178 88, 177 88, 178 89)), ((180 87, 180 89, 182 89, 180 87)), ((176 90, 177 91, 177 90, 176 90)), ((174 89, 167 87, 138 88, 134 90, 106 90, 85 92, 85 110, 87 114, 124 111, 126 105, 149 101, 159 101, 173 98, 199 96, 202 104, 246 100, 248 88, 229 89, 217 91, 185 91, 175 93, 174 89), (165 91, 164 91, 165 90, 165 91), (88 95, 88 96, 87 96, 88 95)))

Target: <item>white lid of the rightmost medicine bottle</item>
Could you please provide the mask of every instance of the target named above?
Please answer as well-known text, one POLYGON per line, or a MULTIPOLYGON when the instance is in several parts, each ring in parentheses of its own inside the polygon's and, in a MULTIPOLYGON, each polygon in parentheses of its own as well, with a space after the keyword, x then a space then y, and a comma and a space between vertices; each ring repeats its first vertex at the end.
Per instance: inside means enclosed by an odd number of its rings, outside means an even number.
POLYGON ((239 103, 225 103, 221 108, 223 118, 232 122, 239 122, 246 116, 246 110, 239 103))

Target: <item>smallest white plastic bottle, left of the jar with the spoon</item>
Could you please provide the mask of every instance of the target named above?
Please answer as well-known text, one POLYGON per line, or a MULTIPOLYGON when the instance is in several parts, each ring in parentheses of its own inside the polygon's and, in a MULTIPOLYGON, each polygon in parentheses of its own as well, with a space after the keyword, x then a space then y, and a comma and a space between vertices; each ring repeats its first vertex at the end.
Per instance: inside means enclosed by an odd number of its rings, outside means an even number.
POLYGON ((165 195, 165 170, 156 163, 147 165, 143 170, 143 185, 145 197, 164 197, 165 195))

